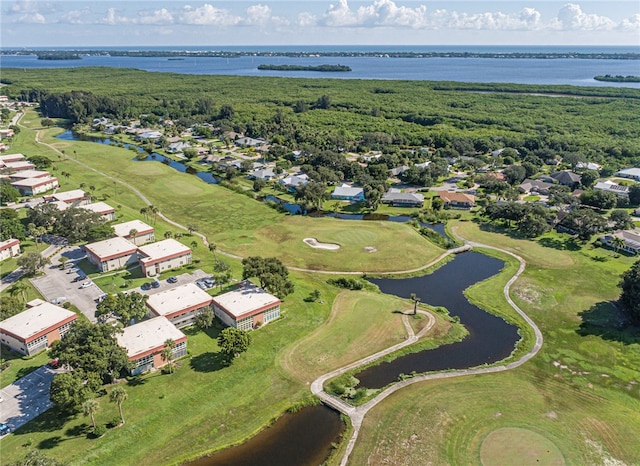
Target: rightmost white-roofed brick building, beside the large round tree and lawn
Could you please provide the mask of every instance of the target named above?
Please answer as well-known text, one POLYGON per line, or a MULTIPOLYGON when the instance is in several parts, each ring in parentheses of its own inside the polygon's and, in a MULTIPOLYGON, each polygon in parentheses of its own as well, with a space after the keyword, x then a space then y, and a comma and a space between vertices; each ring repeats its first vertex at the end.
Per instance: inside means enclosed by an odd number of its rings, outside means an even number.
POLYGON ((237 290, 215 296, 213 310, 229 327, 252 330, 280 317, 280 300, 250 282, 243 282, 237 290))

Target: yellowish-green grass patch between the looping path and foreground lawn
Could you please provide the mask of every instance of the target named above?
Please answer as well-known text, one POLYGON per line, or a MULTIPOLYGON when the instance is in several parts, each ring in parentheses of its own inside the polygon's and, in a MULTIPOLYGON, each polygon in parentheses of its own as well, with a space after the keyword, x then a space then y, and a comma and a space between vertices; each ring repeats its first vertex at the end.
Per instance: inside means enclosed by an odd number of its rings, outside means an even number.
MULTIPOLYGON (((343 291, 333 302, 327 323, 292 346, 280 363, 292 376, 311 383, 324 373, 402 342, 407 331, 401 312, 411 307, 409 301, 395 296, 343 291)), ((438 328, 434 327, 430 334, 446 333, 450 322, 438 314, 434 316, 438 328)))

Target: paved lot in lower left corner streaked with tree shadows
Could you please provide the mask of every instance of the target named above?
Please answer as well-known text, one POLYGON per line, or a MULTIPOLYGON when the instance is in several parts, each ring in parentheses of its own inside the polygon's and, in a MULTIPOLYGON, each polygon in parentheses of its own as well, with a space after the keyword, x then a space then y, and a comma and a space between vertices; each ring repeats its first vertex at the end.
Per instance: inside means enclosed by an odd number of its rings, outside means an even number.
POLYGON ((7 424, 11 432, 42 414, 53 406, 49 400, 49 388, 53 376, 64 372, 43 366, 25 375, 11 385, 0 389, 0 422, 7 424))

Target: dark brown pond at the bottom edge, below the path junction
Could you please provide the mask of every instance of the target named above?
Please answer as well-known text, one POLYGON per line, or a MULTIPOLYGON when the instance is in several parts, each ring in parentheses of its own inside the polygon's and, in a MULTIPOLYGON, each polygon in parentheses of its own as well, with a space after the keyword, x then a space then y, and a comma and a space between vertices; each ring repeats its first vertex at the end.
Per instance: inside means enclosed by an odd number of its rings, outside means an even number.
POLYGON ((340 415, 324 405, 287 413, 271 427, 236 447, 188 463, 189 466, 317 466, 345 429, 340 415))

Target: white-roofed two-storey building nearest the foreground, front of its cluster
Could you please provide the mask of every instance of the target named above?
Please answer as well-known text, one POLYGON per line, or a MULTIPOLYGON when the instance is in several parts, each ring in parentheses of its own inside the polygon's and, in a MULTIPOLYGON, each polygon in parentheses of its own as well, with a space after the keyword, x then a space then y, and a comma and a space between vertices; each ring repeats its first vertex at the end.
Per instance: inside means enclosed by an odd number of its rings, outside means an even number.
POLYGON ((133 363, 131 375, 164 367, 168 361, 162 359, 162 351, 167 340, 175 343, 173 359, 187 355, 187 336, 163 316, 125 327, 116 333, 116 340, 133 363))

